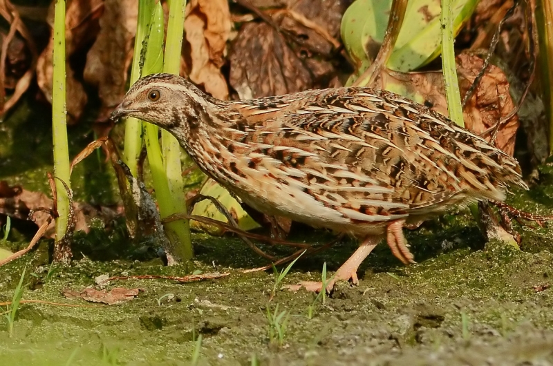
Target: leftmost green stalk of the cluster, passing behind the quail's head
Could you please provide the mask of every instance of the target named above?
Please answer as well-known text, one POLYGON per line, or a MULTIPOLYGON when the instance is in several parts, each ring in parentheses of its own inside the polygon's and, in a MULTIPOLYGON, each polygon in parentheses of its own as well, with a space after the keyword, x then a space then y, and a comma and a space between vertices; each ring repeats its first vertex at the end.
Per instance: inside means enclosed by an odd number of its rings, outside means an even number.
MULTIPOLYGON (((151 15, 153 14, 156 0, 138 1, 138 23, 136 25, 136 35, 134 40, 133 65, 131 68, 131 85, 140 78, 140 50, 142 50, 142 41, 150 29, 151 15)), ((142 121, 136 118, 126 118, 125 120, 125 142, 124 142, 123 160, 134 177, 138 173, 138 155, 142 148, 142 121)))

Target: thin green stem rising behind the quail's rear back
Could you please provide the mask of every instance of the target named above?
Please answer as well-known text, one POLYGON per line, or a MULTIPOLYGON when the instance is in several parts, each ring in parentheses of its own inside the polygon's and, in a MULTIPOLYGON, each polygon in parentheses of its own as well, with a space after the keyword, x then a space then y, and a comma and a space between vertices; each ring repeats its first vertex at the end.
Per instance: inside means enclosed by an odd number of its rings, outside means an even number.
POLYGON ((455 62, 455 48, 453 47, 453 19, 451 6, 453 0, 442 0, 442 68, 444 70, 445 95, 449 119, 461 127, 465 127, 462 118, 461 97, 457 80, 457 65, 455 62))

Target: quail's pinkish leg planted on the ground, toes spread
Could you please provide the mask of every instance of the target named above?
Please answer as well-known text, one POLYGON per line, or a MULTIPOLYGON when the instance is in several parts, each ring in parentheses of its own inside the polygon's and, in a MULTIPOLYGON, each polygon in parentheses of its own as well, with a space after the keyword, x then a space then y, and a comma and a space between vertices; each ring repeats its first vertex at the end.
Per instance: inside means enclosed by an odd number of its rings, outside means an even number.
MULTIPOLYGON (((337 281, 348 281, 351 278, 353 285, 359 285, 359 279, 357 279, 357 269, 359 265, 367 258, 367 256, 375 249, 376 245, 380 241, 381 237, 378 236, 367 236, 365 240, 359 245, 359 248, 355 253, 341 265, 341 267, 336 271, 332 280, 328 281, 326 284, 326 291, 330 292, 334 288, 334 285, 337 281)), ((321 291, 323 284, 322 282, 312 282, 312 281, 302 281, 300 282, 299 287, 288 287, 292 290, 297 290, 301 287, 305 287, 308 291, 321 291)))

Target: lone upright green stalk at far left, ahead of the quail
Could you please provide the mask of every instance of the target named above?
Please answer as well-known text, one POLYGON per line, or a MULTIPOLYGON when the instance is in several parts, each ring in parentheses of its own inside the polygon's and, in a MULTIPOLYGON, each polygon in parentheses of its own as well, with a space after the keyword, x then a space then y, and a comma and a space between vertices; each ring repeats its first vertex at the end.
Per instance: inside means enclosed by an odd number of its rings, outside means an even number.
MULTIPOLYGON (((65 81, 65 0, 56 0, 54 15, 54 75, 52 90, 52 133, 54 146, 54 175, 70 185, 69 149, 66 122, 65 81)), ((69 198, 62 182, 56 180, 57 212, 56 240, 61 240, 67 230, 69 198)))

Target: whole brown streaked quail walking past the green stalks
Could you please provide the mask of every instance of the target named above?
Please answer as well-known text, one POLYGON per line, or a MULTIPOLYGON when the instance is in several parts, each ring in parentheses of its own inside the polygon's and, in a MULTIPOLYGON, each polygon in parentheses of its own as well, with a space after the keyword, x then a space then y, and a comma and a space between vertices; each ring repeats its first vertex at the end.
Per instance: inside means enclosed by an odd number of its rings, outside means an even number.
POLYGON ((397 258, 413 262, 405 223, 504 200, 509 184, 526 187, 513 157, 383 90, 225 102, 158 74, 131 87, 113 112, 122 116, 167 129, 204 173, 254 209, 362 239, 336 280, 357 282, 357 267, 384 235, 397 258))

